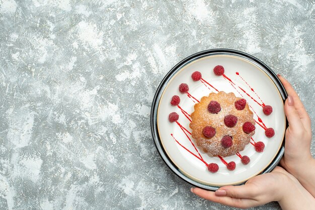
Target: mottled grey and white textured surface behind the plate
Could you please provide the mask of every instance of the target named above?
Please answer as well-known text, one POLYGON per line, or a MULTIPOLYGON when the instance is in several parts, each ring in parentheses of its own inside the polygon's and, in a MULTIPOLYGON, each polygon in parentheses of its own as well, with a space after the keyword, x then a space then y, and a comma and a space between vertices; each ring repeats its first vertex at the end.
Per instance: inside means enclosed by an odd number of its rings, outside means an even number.
POLYGON ((237 49, 285 76, 314 122, 314 29, 310 0, 0 0, 0 208, 229 208, 160 158, 155 89, 193 53, 237 49))

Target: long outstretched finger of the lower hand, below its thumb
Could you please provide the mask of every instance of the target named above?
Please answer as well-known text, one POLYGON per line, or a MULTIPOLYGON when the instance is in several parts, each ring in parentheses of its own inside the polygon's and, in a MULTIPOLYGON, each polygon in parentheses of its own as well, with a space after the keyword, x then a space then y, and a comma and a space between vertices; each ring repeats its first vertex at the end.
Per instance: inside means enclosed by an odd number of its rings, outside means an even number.
POLYGON ((241 199, 241 198, 234 198, 234 197, 228 197, 228 196, 216 196, 215 192, 200 189, 197 187, 194 188, 192 192, 204 199, 221 203, 224 205, 238 207, 238 208, 248 208, 248 207, 256 206, 259 204, 255 200, 246 199, 246 198, 241 199))

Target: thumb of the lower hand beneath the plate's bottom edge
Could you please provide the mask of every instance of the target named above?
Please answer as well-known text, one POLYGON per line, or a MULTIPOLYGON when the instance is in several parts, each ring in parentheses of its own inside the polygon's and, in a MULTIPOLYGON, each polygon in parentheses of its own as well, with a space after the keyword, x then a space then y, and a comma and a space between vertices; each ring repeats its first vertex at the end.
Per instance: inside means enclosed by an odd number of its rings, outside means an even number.
POLYGON ((216 196, 229 196, 234 198, 253 198, 255 197, 255 186, 248 183, 239 186, 223 186, 215 191, 216 196))

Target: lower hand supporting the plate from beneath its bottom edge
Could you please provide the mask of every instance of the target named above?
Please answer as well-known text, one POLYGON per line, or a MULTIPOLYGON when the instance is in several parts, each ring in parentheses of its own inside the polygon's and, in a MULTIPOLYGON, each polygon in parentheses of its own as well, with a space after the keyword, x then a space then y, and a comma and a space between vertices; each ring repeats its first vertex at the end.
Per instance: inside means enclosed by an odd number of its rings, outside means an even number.
POLYGON ((191 188, 191 191, 204 199, 238 208, 278 201, 283 209, 310 209, 315 203, 296 178, 279 166, 270 173, 251 178, 244 185, 223 186, 215 192, 200 188, 191 188))

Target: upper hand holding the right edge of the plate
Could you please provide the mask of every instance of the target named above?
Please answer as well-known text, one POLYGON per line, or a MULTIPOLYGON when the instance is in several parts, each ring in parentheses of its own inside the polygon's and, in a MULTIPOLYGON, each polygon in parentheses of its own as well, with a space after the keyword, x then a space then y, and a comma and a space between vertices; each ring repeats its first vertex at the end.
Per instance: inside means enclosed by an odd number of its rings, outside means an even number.
POLYGON ((304 172, 313 165, 310 153, 310 119, 290 83, 282 76, 278 75, 278 77, 288 93, 288 98, 284 103, 284 112, 289 122, 289 127, 285 132, 284 157, 280 164, 299 179, 299 172, 304 172))

